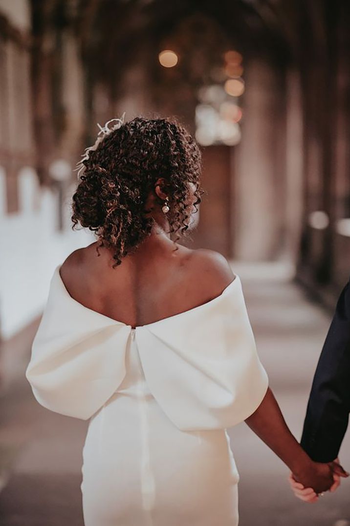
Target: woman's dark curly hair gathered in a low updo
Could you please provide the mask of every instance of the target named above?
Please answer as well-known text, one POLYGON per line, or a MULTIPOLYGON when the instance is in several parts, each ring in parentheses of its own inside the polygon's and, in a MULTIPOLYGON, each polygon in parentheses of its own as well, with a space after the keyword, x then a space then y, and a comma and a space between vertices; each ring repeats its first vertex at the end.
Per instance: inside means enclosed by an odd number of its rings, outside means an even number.
MULTIPOLYGON (((166 181, 169 197, 169 234, 174 243, 188 228, 192 214, 186 205, 188 183, 196 186, 201 203, 201 151, 195 139, 175 118, 136 117, 111 131, 82 161, 83 175, 73 195, 72 228, 78 222, 95 232, 99 247, 113 249, 113 259, 133 252, 151 234, 153 217, 145 217, 146 200, 159 177, 166 181)), ((159 205, 164 202, 156 197, 159 205)), ((177 248, 176 248, 177 249, 177 248)))

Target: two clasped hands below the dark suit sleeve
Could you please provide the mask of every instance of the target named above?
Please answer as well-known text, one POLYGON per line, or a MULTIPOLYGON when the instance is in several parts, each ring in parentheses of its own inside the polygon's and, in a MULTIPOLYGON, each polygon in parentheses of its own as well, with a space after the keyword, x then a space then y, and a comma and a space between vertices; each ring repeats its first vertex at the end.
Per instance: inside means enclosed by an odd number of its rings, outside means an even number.
POLYGON ((319 495, 324 491, 335 491, 341 477, 348 477, 347 473, 339 464, 339 460, 333 462, 321 463, 311 462, 307 469, 300 473, 289 473, 289 484, 294 494, 304 502, 317 502, 319 495))

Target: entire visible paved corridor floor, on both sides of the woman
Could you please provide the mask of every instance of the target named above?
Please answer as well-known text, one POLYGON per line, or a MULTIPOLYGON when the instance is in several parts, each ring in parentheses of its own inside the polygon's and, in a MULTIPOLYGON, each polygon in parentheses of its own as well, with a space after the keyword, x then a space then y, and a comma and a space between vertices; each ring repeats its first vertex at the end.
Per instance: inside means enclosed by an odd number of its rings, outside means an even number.
MULTIPOLYGON (((234 265, 234 270, 242 279, 270 385, 299 438, 331 317, 309 304, 296 285, 286 282, 282 267, 234 265)), ((24 372, 25 365, 25 360, 19 363, 18 371, 24 372)), ((0 485, 4 485, 0 524, 83 526, 80 483, 87 422, 39 406, 23 377, 0 399, 0 414, 0 485)), ((335 494, 326 494, 316 504, 304 504, 289 491, 288 469, 244 423, 231 430, 230 437, 241 475, 240 526, 350 526, 348 480, 335 494)), ((341 461, 350 468, 350 432, 341 461)))

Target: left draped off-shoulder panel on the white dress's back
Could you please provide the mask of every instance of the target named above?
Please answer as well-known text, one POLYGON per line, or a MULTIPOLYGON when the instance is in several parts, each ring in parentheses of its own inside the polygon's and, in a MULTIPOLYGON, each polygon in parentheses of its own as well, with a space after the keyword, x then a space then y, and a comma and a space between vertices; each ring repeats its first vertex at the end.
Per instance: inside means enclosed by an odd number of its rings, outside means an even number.
POLYGON ((87 420, 125 377, 129 328, 78 304, 57 269, 32 343, 25 376, 45 408, 87 420))

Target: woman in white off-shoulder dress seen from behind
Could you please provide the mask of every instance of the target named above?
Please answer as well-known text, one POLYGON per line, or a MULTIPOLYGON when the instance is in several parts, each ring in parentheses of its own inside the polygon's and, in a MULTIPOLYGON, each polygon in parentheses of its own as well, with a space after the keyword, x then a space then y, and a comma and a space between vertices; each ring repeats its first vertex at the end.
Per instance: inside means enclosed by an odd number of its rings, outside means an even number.
POLYGON ((236 526, 226 430, 242 421, 301 487, 329 490, 340 467, 289 431, 239 276, 177 242, 203 193, 195 140, 174 119, 100 128, 72 204, 97 240, 57 265, 26 369, 42 406, 89 420, 85 526, 236 526))

